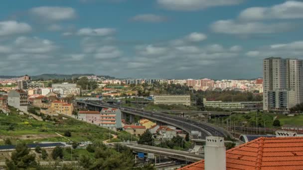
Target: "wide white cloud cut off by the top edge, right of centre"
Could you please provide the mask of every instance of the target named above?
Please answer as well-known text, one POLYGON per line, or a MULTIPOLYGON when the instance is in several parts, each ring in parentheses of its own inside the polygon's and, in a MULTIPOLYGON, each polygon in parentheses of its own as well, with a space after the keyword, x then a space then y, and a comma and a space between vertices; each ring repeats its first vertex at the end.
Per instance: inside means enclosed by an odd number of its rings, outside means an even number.
POLYGON ((157 3, 171 10, 199 10, 213 6, 235 5, 243 0, 157 0, 157 3))

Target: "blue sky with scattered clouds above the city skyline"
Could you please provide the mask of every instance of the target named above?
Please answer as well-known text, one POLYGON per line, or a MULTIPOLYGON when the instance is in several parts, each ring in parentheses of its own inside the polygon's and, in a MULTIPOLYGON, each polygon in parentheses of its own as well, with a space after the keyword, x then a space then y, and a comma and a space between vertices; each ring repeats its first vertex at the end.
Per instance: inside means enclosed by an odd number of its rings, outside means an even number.
POLYGON ((0 75, 252 79, 303 58, 303 0, 1 0, 0 75))

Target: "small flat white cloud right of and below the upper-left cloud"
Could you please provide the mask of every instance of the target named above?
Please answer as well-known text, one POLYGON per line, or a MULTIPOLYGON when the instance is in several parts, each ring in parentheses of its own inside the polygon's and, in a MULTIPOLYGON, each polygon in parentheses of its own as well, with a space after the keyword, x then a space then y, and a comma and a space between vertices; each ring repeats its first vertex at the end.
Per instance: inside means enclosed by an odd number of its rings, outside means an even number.
POLYGON ((115 28, 82 28, 78 30, 77 35, 81 36, 108 36, 116 32, 115 28))

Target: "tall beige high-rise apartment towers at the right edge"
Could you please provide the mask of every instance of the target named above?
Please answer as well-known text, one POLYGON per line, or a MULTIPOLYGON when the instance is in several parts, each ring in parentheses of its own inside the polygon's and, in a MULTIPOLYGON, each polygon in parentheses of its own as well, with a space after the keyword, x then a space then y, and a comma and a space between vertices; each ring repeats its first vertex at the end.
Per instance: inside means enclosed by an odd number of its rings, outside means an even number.
MULTIPOLYGON (((289 106, 303 102, 303 67, 302 60, 298 59, 282 59, 267 58, 263 61, 263 109, 272 110, 270 106, 283 105, 279 103, 269 103, 268 94, 271 91, 289 90, 294 93, 291 95, 294 99, 288 99, 295 103, 289 106)), ((274 100, 275 102, 286 102, 282 100, 274 100)), ((274 110, 285 110, 289 108, 275 108, 274 110)))

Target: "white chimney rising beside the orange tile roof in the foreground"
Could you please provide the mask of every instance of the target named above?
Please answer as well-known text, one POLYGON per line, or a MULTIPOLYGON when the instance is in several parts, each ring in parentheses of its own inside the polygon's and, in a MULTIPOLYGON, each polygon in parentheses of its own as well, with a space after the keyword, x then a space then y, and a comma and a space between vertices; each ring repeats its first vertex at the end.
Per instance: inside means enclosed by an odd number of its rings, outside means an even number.
POLYGON ((226 170, 226 149, 224 138, 207 136, 204 146, 204 169, 226 170))

